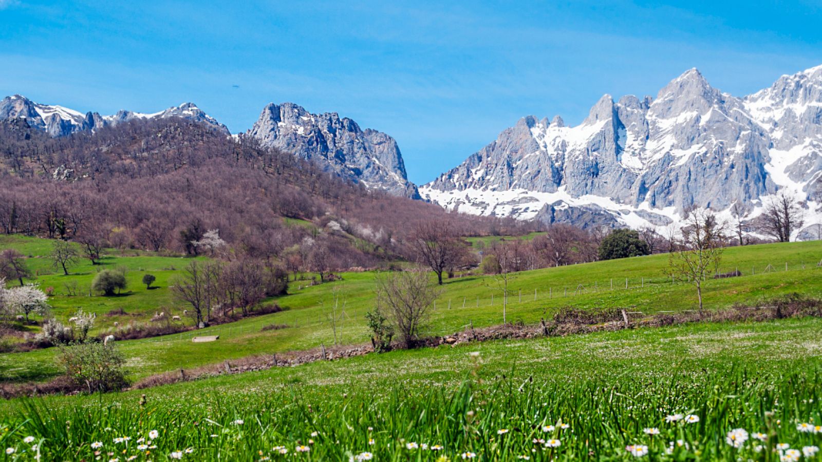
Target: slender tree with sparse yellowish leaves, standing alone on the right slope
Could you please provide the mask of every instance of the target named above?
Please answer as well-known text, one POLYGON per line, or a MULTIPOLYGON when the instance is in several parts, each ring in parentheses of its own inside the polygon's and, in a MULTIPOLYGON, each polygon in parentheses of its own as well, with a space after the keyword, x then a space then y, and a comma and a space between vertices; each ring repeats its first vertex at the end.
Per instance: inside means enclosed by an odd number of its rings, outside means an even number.
POLYGON ((671 252, 668 267, 673 277, 696 286, 701 310, 702 282, 722 261, 722 226, 709 211, 690 210, 686 214, 682 241, 677 252, 671 252))

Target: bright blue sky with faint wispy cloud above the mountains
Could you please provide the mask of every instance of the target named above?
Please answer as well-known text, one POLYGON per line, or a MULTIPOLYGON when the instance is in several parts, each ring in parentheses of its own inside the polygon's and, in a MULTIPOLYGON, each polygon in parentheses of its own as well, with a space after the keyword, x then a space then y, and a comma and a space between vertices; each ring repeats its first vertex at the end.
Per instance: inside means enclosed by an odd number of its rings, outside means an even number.
POLYGON ((822 64, 818 1, 231 3, 0 0, 0 94, 192 101, 232 132, 291 101, 394 136, 423 183, 524 115, 578 123, 690 67, 746 95, 822 64))

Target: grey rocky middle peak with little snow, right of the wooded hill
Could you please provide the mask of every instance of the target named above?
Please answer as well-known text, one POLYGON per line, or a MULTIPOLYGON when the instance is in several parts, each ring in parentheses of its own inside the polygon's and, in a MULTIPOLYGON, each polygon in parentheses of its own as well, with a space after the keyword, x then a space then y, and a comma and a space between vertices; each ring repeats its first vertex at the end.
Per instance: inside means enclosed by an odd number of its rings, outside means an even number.
POLYGON ((247 135, 367 187, 419 198, 394 138, 361 130, 357 122, 337 113, 312 114, 297 104, 268 104, 247 135))

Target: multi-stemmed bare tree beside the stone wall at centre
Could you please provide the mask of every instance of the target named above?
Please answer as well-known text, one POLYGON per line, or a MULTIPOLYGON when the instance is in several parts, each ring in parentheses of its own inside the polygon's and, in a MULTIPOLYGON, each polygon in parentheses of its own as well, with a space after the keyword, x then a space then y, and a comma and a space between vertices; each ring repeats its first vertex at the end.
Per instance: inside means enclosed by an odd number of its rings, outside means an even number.
POLYGON ((440 291, 423 270, 395 271, 376 278, 377 303, 387 307, 407 348, 412 348, 440 291))

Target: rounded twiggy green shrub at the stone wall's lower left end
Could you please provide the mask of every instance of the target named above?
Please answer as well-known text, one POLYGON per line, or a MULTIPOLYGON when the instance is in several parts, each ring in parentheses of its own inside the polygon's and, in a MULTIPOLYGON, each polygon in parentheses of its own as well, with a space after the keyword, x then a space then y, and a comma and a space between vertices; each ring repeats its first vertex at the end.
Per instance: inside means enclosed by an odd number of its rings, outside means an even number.
POLYGON ((76 343, 60 348, 58 362, 77 386, 89 393, 122 390, 128 385, 125 359, 113 344, 76 343))

